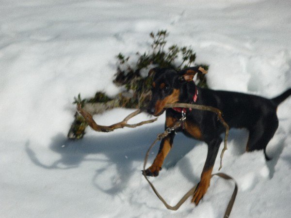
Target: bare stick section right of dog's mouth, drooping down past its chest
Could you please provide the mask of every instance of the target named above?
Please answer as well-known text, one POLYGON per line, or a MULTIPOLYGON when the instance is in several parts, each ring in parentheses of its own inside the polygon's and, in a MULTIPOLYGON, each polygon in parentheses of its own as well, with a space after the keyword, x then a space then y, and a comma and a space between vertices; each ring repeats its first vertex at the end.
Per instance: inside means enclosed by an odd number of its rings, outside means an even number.
POLYGON ((223 119, 221 110, 217 109, 217 108, 213 108, 211 106, 193 105, 193 104, 185 104, 185 103, 166 104, 165 108, 192 108, 192 109, 198 109, 198 110, 208 110, 208 111, 216 113, 217 118, 222 123, 222 125, 224 125, 224 127, 226 128, 224 148, 222 149, 221 155, 220 155, 220 167, 218 169, 218 170, 220 170, 222 168, 223 155, 224 155, 225 151, 227 150, 226 143, 227 143, 228 132, 229 132, 229 126, 226 124, 225 120, 223 119))

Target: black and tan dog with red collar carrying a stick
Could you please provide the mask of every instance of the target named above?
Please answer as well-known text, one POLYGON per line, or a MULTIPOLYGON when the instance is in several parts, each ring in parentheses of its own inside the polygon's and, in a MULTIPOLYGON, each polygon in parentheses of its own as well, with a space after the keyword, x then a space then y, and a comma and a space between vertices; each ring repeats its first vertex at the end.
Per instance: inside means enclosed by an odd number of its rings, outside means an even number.
MULTIPOLYGON (((208 145, 206 162, 201 173, 201 180, 196 188, 192 202, 199 203, 210 186, 210 176, 222 142, 220 135, 225 127, 217 120, 215 113, 196 109, 164 109, 165 104, 191 103, 212 106, 223 111, 223 117, 230 128, 246 128, 249 138, 246 151, 263 149, 266 155, 266 146, 272 139, 278 127, 276 115, 277 106, 291 95, 291 89, 281 95, 267 99, 252 94, 214 91, 196 87, 193 78, 197 72, 205 73, 202 67, 190 67, 177 72, 173 69, 154 68, 152 83, 152 99, 148 106, 148 113, 154 116, 161 115, 166 110, 165 128, 172 127, 178 121, 182 112, 186 114, 184 125, 178 129, 186 136, 205 141, 208 145)), ((162 169, 164 158, 169 153, 175 133, 171 132, 164 138, 160 150, 153 164, 144 172, 147 176, 158 176, 162 169)))

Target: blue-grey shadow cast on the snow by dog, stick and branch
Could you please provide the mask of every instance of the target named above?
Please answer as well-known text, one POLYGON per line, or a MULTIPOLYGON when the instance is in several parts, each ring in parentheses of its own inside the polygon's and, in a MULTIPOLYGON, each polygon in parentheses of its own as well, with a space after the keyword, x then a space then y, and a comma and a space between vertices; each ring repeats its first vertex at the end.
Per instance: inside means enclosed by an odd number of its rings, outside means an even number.
MULTIPOLYGON (((130 177, 134 171, 141 171, 143 166, 144 157, 149 145, 155 140, 158 133, 162 132, 163 125, 156 125, 150 128, 140 127, 125 133, 104 133, 99 136, 85 136, 81 140, 67 140, 64 134, 58 134, 52 138, 49 148, 61 157, 55 160, 51 165, 42 164, 36 157, 34 151, 30 148, 30 142, 26 142, 26 153, 32 160, 32 162, 44 169, 71 169, 77 168, 84 161, 96 161, 104 162, 102 167, 96 170, 95 175, 92 178, 92 182, 95 187, 108 193, 116 194, 120 192, 124 187, 127 187, 130 177), (101 157, 87 157, 92 154, 101 154, 101 157), (104 155, 104 156, 103 156, 104 155), (136 168, 134 161, 140 162, 140 169, 136 168), (118 185, 109 189, 100 187, 97 183, 98 177, 102 176, 102 173, 107 171, 109 167, 114 166, 116 173, 118 174, 118 185)), ((234 156, 240 156, 244 153, 245 144, 247 141, 247 134, 240 132, 240 130, 231 130, 229 134, 229 142, 234 146, 230 152, 234 156)), ((158 142, 159 143, 159 142, 158 142)), ((150 166, 154 157, 156 156, 159 144, 156 144, 152 149, 147 167, 150 166)), ((174 167, 176 163, 182 159, 195 145, 199 143, 197 140, 189 139, 183 134, 178 133, 174 140, 173 148, 164 161, 163 169, 174 167)), ((223 146, 223 144, 221 144, 223 146)), ((274 175, 275 165, 282 152, 282 148, 278 149, 278 152, 274 154, 274 158, 267 162, 267 166, 270 169, 270 178, 274 175)), ((263 153, 262 153, 263 155, 263 153)), ((181 164, 179 164, 181 165, 181 164)), ((194 160, 189 158, 183 159, 183 176, 190 182, 199 181, 199 173, 194 173, 194 160)), ((141 173, 141 172, 140 172, 141 173)))

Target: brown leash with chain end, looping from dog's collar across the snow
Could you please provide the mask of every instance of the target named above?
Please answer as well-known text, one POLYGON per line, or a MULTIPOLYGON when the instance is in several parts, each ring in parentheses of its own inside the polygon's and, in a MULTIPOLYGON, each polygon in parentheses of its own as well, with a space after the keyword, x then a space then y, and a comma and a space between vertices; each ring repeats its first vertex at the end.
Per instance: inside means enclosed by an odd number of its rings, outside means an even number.
MULTIPOLYGON (((150 145, 149 149, 147 150, 146 152, 146 156, 145 156, 145 160, 144 160, 144 171, 146 171, 146 163, 147 163, 147 159, 148 159, 148 156, 149 156, 149 152, 150 150, 152 149, 152 147, 159 141, 159 140, 162 140, 164 137, 166 137, 169 133, 171 133, 172 131, 175 131, 178 127, 181 126, 181 124, 184 122, 185 119, 181 118, 180 120, 178 120, 178 122, 176 122, 176 124, 172 127, 172 128, 168 128, 166 129, 162 134, 159 134, 157 136, 157 139, 150 145)), ((157 191, 157 189, 154 187, 154 185, 148 180, 148 178, 146 177, 146 174, 143 173, 143 175, 145 176, 146 178, 146 181, 148 182, 148 184, 150 185, 150 187, 153 189, 153 191, 155 192, 155 194, 158 196, 158 198, 163 202, 163 204, 166 206, 167 209, 169 210, 178 210, 179 207, 192 195, 194 195, 194 192, 196 190, 196 187, 197 185, 195 185, 193 188, 191 188, 182 198, 181 200, 175 205, 175 206, 171 206, 169 205, 163 198, 162 196, 160 195, 160 193, 157 191)), ((236 181, 230 177, 229 175, 225 174, 225 173, 222 173, 222 172, 218 172, 218 173, 214 173, 211 175, 214 176, 214 175, 217 175, 221 178, 224 178, 226 180, 233 180, 234 183, 235 183, 235 187, 234 187, 234 190, 233 190, 233 193, 232 193, 232 196, 228 202, 228 205, 226 207, 226 212, 225 212, 225 215, 224 215, 224 218, 228 218, 229 215, 230 215, 230 212, 231 212, 231 209, 232 209, 232 206, 234 204, 234 201, 235 201, 235 198, 236 198, 236 195, 237 195, 237 192, 238 192, 238 185, 236 183, 236 181)))

